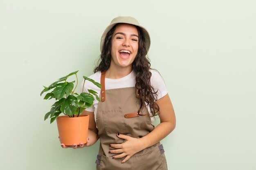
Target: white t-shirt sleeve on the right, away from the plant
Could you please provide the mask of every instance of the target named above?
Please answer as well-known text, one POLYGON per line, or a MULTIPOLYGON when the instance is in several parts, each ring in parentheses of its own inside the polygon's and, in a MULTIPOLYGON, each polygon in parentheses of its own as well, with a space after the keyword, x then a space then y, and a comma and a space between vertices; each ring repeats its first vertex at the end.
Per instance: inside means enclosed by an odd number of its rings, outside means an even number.
POLYGON ((168 93, 164 79, 158 71, 150 70, 150 72, 152 73, 150 79, 151 85, 157 91, 157 99, 161 99, 168 93))

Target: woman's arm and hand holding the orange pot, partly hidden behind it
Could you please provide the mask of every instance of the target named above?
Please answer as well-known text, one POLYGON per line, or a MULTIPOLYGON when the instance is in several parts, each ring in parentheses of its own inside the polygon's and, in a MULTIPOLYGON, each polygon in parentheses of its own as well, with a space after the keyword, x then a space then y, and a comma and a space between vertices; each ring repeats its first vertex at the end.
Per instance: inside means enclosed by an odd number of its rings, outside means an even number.
POLYGON ((61 144, 62 148, 83 148, 85 146, 92 146, 93 144, 95 144, 98 140, 97 136, 98 136, 98 129, 96 128, 96 123, 95 123, 95 119, 94 119, 94 113, 93 112, 88 112, 83 110, 83 112, 81 113, 81 115, 89 115, 89 129, 88 129, 88 139, 87 139, 87 143, 86 144, 73 144, 73 146, 65 146, 64 144, 61 144))

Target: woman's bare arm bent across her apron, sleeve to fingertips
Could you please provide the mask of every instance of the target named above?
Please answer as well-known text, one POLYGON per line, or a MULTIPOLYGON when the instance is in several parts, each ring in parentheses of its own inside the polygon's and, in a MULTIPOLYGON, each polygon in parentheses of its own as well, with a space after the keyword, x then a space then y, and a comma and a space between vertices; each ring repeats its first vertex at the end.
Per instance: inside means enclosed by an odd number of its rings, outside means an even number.
POLYGON ((112 148, 116 148, 115 150, 110 150, 111 153, 121 153, 120 155, 116 155, 114 159, 126 156, 125 159, 121 161, 121 163, 124 163, 135 153, 153 146, 173 131, 176 126, 176 118, 169 95, 165 95, 157 100, 156 103, 160 111, 160 124, 152 130, 152 132, 142 138, 133 138, 127 135, 117 134, 118 137, 125 139, 126 142, 123 144, 111 144, 112 148))

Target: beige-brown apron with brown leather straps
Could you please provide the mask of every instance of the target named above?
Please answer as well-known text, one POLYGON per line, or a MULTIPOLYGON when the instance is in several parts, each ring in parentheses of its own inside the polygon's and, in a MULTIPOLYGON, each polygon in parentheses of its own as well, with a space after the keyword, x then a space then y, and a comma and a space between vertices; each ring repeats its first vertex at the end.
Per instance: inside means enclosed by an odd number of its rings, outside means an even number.
POLYGON ((154 129, 148 110, 144 106, 137 115, 139 99, 135 87, 116 88, 105 91, 105 73, 101 74, 101 102, 97 109, 96 124, 99 130, 100 148, 97 155, 97 170, 167 170, 163 146, 158 142, 133 155, 125 163, 112 159, 119 154, 108 153, 114 148, 110 144, 124 143, 117 133, 141 138, 154 129))

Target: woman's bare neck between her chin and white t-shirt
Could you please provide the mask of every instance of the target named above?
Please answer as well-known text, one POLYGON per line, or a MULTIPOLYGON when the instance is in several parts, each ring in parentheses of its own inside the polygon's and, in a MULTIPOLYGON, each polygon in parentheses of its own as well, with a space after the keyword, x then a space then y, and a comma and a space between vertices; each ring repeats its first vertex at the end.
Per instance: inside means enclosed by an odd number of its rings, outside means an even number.
POLYGON ((132 72, 132 66, 129 67, 116 67, 110 64, 110 67, 106 71, 106 78, 109 79, 120 79, 132 72))

